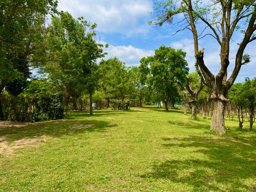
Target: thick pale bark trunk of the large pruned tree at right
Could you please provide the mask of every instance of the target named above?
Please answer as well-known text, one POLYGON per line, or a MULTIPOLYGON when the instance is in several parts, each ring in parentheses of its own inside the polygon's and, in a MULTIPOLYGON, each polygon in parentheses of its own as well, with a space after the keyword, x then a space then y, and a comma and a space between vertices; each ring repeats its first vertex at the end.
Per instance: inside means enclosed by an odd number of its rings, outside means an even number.
POLYGON ((226 102, 220 99, 212 99, 211 101, 211 128, 219 134, 225 134, 226 129, 224 125, 224 112, 226 102))

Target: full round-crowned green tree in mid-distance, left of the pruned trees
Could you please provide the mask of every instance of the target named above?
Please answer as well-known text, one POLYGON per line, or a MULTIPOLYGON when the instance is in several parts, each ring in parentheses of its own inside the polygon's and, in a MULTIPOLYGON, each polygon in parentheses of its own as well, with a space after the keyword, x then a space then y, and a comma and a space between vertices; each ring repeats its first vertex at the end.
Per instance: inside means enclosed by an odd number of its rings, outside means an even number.
POLYGON ((150 65, 151 78, 149 81, 159 90, 161 99, 165 103, 165 110, 168 111, 170 94, 176 82, 184 83, 188 74, 188 63, 185 60, 186 52, 174 48, 160 46, 155 50, 154 56, 142 58, 142 65, 150 65))

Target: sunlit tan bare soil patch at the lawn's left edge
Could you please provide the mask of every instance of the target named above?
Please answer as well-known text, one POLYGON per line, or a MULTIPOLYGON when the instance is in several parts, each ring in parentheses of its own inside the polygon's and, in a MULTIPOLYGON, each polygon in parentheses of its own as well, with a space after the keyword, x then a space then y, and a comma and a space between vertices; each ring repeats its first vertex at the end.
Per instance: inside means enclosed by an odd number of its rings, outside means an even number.
POLYGON ((29 138, 25 137, 14 142, 8 142, 5 138, 0 138, 0 154, 4 156, 14 156, 20 148, 38 147, 41 142, 45 142, 48 136, 29 138))

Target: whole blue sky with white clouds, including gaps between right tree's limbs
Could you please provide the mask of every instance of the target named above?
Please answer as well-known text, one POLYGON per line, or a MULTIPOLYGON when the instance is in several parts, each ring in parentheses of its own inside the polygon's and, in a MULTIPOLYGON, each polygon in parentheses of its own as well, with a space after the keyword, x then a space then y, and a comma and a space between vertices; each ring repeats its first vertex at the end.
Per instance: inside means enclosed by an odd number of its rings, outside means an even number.
MULTIPOLYGON (((108 43, 108 58, 117 56, 126 66, 139 66, 142 57, 154 54, 161 45, 182 49, 187 52, 186 59, 190 72, 194 71, 194 46, 192 33, 184 30, 173 35, 177 26, 164 25, 155 29, 147 21, 152 17, 152 0, 58 0, 58 10, 68 11, 74 18, 84 16, 85 20, 98 24, 101 42, 108 43)), ((230 66, 228 76, 234 68, 234 57, 241 34, 236 34, 230 48, 230 66)), ((205 48, 204 61, 210 71, 216 75, 220 69, 220 47, 213 38, 203 38, 199 48, 205 48)), ((242 66, 236 82, 244 82, 244 77, 256 77, 256 43, 248 44, 246 53, 252 55, 252 62, 242 66)))

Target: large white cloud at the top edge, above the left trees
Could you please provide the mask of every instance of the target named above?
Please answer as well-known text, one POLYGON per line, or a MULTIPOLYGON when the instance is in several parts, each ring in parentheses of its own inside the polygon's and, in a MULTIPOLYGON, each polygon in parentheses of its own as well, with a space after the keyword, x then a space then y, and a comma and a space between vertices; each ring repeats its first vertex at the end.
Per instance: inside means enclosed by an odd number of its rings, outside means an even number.
POLYGON ((146 35, 150 26, 148 11, 151 0, 59 0, 58 10, 68 11, 74 18, 84 16, 98 24, 103 33, 118 32, 126 36, 146 35))

